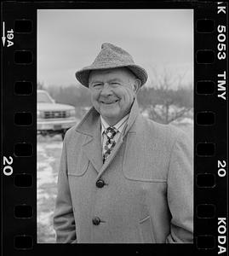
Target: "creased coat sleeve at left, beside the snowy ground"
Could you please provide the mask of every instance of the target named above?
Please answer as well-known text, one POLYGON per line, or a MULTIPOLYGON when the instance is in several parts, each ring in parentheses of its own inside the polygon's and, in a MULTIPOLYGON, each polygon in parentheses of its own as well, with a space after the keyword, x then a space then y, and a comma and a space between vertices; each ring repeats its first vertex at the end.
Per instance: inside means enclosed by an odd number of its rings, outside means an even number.
POLYGON ((72 212, 72 198, 67 177, 66 137, 63 143, 63 149, 60 159, 58 192, 54 210, 54 230, 56 233, 56 242, 77 242, 75 219, 72 212))

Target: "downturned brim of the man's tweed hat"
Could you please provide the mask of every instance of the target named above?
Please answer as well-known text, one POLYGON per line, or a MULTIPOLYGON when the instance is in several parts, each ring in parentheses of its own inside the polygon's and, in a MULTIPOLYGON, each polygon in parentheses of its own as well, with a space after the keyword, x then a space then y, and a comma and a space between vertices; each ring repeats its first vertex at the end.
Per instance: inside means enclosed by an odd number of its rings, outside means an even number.
POLYGON ((127 67, 129 70, 135 74, 135 76, 140 79, 142 86, 143 84, 146 84, 146 80, 148 78, 148 75, 146 73, 146 70, 143 67, 140 67, 135 64, 129 64, 129 65, 116 65, 116 66, 104 66, 104 67, 94 67, 94 66, 89 66, 89 67, 83 67, 83 69, 77 71, 76 73, 76 78, 77 80, 83 84, 86 87, 89 87, 89 73, 93 70, 105 70, 105 69, 110 69, 110 68, 118 68, 118 67, 127 67))

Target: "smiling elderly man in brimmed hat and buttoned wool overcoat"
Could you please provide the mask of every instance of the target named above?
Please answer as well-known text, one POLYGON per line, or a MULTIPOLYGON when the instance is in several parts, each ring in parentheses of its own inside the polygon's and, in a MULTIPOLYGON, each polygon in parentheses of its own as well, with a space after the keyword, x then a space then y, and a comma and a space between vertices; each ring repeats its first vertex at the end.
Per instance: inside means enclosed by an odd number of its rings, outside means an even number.
POLYGON ((192 141, 140 114, 146 70, 106 43, 76 77, 93 108, 64 140, 56 241, 192 243, 192 141))

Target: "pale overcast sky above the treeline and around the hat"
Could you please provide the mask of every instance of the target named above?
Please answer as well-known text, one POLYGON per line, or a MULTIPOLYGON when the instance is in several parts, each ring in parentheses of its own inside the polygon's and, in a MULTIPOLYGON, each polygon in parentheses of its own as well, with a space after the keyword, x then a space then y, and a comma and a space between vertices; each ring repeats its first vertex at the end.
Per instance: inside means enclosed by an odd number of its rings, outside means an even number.
POLYGON ((76 71, 106 42, 146 68, 149 84, 165 67, 193 85, 192 9, 40 9, 37 17, 37 74, 45 86, 77 84, 76 71))

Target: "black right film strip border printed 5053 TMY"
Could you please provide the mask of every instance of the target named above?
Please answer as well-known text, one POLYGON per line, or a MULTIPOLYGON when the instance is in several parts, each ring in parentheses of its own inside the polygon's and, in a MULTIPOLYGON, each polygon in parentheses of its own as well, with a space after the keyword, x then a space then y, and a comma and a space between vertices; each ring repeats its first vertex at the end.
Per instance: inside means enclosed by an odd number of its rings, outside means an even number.
POLYGON ((223 255, 227 247, 228 186, 226 4, 199 8, 195 20, 194 230, 199 250, 223 255))

